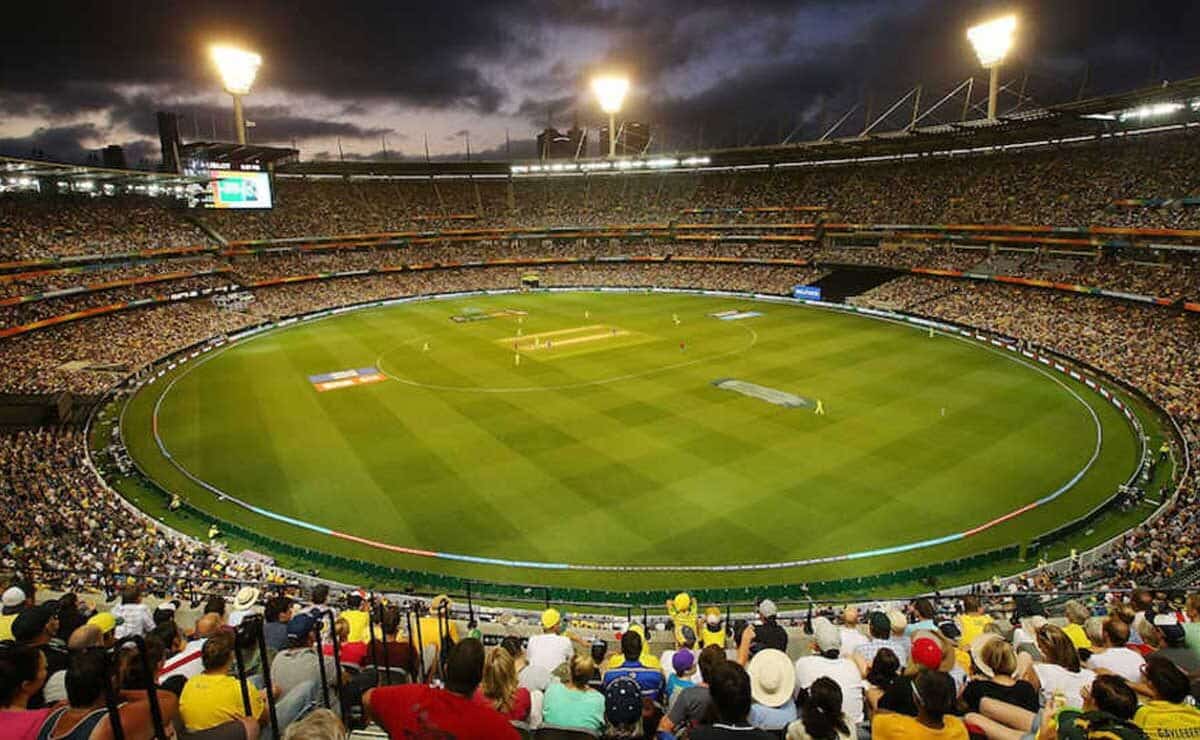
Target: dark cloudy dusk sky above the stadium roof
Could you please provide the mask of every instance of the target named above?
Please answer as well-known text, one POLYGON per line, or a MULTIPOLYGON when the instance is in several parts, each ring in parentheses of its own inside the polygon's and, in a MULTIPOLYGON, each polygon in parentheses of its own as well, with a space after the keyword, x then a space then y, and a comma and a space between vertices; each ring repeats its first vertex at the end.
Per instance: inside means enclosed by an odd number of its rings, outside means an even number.
POLYGON ((917 83, 931 103, 984 82, 965 29, 1008 11, 1003 80, 1025 106, 1200 74, 1188 0, 48 0, 0 24, 0 152, 79 161, 116 143, 155 160, 156 110, 182 115, 185 140, 230 139, 212 41, 264 58, 251 140, 305 157, 338 156, 338 139, 348 157, 424 157, 426 137, 461 156, 468 136, 475 157, 506 138, 529 156, 547 120, 600 122, 587 80, 608 67, 634 79, 625 110, 656 150, 814 138, 859 103, 839 130, 853 134, 917 83))

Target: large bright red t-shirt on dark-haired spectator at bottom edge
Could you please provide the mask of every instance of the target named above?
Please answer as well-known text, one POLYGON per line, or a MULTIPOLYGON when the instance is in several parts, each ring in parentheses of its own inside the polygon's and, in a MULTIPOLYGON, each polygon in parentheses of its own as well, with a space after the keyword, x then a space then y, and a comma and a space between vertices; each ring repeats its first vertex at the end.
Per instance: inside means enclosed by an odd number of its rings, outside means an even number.
POLYGON ((371 714, 394 740, 520 740, 500 712, 425 684, 371 691, 371 714))

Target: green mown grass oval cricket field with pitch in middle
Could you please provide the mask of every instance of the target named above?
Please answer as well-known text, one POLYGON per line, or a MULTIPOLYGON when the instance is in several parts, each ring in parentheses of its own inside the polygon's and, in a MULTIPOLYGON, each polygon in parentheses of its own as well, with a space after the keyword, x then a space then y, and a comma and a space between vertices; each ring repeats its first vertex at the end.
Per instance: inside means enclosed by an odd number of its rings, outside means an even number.
POLYGON ((355 311, 228 345, 145 386, 122 429, 164 489, 314 551, 499 582, 786 583, 1021 542, 1124 482, 1138 440, 1123 416, 1019 360, 804 306, 493 295, 355 311), (716 385, 728 380, 739 383, 716 385), (715 567, 949 539, 1076 476, 970 537, 715 567))

